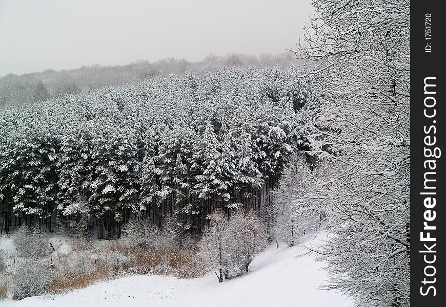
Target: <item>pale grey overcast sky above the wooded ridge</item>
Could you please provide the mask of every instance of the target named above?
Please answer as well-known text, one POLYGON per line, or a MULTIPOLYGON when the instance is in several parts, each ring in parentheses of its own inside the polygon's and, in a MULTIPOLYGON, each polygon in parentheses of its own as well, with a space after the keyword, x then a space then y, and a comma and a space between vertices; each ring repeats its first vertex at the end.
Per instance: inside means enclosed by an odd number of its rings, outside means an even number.
POLYGON ((210 53, 281 53, 310 0, 0 0, 0 76, 210 53))

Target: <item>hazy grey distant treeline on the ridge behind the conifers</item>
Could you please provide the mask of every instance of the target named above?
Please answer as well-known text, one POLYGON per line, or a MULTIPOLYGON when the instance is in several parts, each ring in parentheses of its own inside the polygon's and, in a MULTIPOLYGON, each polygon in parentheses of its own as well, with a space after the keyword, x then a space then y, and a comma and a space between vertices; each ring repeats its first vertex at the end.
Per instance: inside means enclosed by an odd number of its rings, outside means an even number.
POLYGON ((17 76, 8 74, 0 78, 0 107, 11 104, 23 104, 67 94, 78 94, 97 90, 109 85, 122 85, 147 77, 170 74, 193 73, 202 75, 224 67, 249 67, 250 65, 282 65, 288 67, 297 63, 293 53, 279 55, 262 54, 258 57, 246 54, 226 56, 209 55, 198 62, 186 59, 166 58, 155 62, 138 60, 128 65, 84 66, 79 69, 35 72, 17 76))

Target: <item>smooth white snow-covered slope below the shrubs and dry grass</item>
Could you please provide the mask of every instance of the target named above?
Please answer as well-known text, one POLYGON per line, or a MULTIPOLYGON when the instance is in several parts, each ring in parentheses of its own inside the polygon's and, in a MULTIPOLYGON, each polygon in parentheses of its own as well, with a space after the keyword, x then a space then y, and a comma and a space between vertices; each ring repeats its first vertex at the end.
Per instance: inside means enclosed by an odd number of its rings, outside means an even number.
MULTIPOLYGON (((304 245, 314 245, 309 240, 304 245)), ((169 276, 138 275, 98 282, 86 289, 63 295, 29 297, 21 301, 0 301, 3 306, 300 306, 350 307, 353 301, 333 291, 317 290, 325 283, 323 264, 303 255, 301 246, 275 244, 257 255, 250 272, 218 283, 215 274, 178 279, 169 276)))

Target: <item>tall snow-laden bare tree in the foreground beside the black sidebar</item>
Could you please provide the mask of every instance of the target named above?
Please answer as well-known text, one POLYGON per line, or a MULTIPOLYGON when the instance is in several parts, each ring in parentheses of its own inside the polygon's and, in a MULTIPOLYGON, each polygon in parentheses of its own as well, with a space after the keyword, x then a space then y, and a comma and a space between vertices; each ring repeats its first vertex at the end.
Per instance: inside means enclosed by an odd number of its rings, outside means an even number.
POLYGON ((309 199, 328 213, 332 283, 361 306, 409 305, 410 3, 313 2, 305 46, 325 93, 309 199))

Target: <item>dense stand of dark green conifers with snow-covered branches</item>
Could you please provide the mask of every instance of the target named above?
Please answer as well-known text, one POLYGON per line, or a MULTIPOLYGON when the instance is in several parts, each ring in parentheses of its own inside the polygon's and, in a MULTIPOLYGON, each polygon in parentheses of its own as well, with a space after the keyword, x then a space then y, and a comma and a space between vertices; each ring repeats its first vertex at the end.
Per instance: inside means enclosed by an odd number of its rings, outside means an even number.
MULTIPOLYGON (((17 216, 201 227, 216 208, 263 205, 319 103, 297 67, 147 78, 0 113, 0 199, 17 216), (259 196, 260 195, 260 196, 259 196), (74 206, 71 208, 71 206, 74 206)), ((54 219, 52 221, 54 223, 54 219)))

